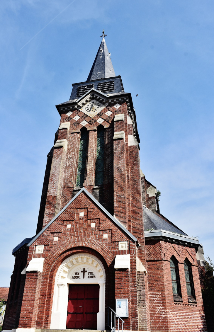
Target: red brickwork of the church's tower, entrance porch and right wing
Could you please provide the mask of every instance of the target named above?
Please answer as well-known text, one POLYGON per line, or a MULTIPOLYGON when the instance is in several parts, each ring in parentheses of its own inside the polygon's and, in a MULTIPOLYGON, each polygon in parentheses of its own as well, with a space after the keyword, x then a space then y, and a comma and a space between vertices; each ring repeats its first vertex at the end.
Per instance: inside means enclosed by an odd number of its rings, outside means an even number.
POLYGON ((128 135, 135 134, 128 110, 128 98, 126 101, 112 98, 110 104, 93 118, 77 108, 72 109, 70 115, 67 115, 67 107, 60 113, 60 124, 69 122, 70 125, 67 126, 69 130, 57 131, 54 143, 66 140, 67 149, 54 147, 48 155, 37 234, 79 191, 75 187, 81 123, 85 121, 89 135, 84 187, 112 215, 115 214, 138 243, 114 224, 84 192, 80 193, 29 250, 22 248, 17 252, 3 329, 50 329, 57 269, 71 255, 87 253, 97 257, 104 266, 106 306, 115 309, 115 298, 129 299, 129 317, 124 318, 124 329, 206 331, 195 248, 161 240, 146 241, 145 245, 143 205, 158 213, 157 197, 147 194, 147 189, 153 185, 141 177, 139 146, 128 145, 128 135), (114 107, 116 103, 118 108, 114 107), (108 111, 109 115, 106 114, 108 111), (124 120, 114 121, 115 115, 122 115, 121 119, 124 115, 124 120), (97 122, 99 118, 103 120, 102 124, 97 122), (104 127, 104 181, 102 185, 94 186, 98 125, 104 127), (114 133, 120 131, 124 132, 123 138, 113 139, 114 133), (91 227, 92 223, 95 227, 91 227), (119 250, 119 241, 127 241, 128 250, 119 250), (42 254, 35 252, 36 245, 44 245, 42 254), (130 254, 130 270, 114 270, 116 255, 123 254, 130 254), (173 300, 169 266, 172 255, 178 260, 182 303, 173 300), (32 258, 40 257, 44 258, 43 273, 21 275, 32 258), (136 257, 148 275, 137 271, 136 257), (192 264, 196 304, 188 303, 183 268, 185 258, 192 264))

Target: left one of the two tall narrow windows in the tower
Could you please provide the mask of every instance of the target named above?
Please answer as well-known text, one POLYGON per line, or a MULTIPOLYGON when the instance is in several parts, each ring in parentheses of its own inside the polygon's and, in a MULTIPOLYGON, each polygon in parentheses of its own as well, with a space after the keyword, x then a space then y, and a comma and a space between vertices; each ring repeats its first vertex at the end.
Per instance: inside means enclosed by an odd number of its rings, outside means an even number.
POLYGON ((80 144, 79 144, 79 159, 78 159, 77 177, 76 177, 77 187, 82 187, 85 180, 87 145, 88 145, 88 132, 86 128, 83 128, 81 130, 80 144))

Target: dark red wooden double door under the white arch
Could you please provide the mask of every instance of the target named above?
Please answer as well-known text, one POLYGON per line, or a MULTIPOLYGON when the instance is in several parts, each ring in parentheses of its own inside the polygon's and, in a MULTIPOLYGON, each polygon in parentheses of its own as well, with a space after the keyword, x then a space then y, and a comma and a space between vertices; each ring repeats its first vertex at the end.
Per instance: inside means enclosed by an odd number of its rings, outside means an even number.
POLYGON ((99 285, 70 285, 66 329, 97 328, 99 285))

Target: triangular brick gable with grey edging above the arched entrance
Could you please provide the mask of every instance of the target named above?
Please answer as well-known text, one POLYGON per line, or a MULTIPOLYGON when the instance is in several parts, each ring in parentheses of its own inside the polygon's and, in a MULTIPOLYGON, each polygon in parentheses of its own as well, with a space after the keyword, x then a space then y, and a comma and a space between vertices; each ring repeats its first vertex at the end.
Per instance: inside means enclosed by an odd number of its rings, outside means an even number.
POLYGON ((131 234, 117 219, 115 219, 85 188, 82 188, 76 196, 37 234, 31 242, 39 241, 42 237, 63 236, 63 231, 74 237, 92 237, 103 239, 108 234, 111 241, 125 241, 131 239, 137 242, 137 238, 131 234), (95 223, 95 227, 91 224, 95 223), (67 228, 67 225, 70 225, 67 228), (93 228, 93 229, 92 229, 93 228), (93 231, 93 233, 92 233, 93 231), (51 234, 51 235, 50 235, 51 234), (38 240, 37 240, 38 239, 38 240))

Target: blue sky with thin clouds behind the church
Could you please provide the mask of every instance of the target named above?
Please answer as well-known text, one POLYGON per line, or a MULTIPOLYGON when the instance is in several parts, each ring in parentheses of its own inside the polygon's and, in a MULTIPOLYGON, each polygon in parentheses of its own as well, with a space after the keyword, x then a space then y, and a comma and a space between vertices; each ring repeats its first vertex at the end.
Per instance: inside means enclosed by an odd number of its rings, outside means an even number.
POLYGON ((161 213, 214 260, 213 1, 76 0, 23 47, 70 3, 0 2, 0 286, 10 284, 12 249, 36 231, 55 105, 86 80, 103 28, 132 93, 141 169, 161 191, 161 213))

